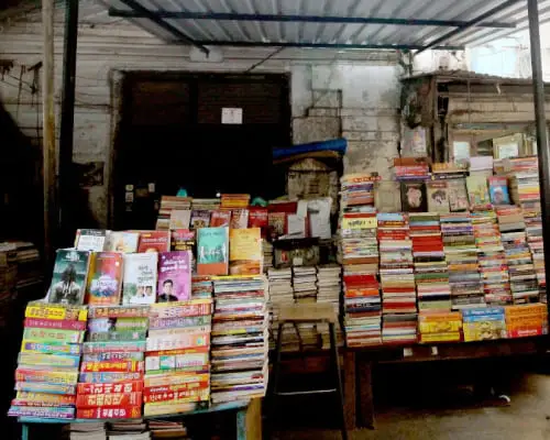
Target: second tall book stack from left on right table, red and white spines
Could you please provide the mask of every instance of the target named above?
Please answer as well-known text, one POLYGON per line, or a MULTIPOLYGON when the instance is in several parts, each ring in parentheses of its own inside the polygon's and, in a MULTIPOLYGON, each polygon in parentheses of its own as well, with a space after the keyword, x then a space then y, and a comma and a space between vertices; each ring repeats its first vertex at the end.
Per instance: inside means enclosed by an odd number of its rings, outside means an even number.
POLYGON ((415 266, 407 215, 378 213, 377 222, 382 311, 414 314, 417 311, 415 266))

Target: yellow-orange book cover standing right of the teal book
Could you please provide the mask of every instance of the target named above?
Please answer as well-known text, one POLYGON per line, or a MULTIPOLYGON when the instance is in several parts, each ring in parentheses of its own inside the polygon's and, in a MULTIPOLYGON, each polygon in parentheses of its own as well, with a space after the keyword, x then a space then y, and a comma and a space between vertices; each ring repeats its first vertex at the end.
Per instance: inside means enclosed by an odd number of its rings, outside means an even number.
POLYGON ((262 273, 262 231, 260 228, 231 229, 229 231, 230 275, 257 275, 262 273))

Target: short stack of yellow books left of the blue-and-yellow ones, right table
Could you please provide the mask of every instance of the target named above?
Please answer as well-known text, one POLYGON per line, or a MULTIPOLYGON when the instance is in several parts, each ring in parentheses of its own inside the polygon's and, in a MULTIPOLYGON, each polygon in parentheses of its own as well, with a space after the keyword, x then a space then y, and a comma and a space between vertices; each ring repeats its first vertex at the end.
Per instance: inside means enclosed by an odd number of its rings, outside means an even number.
POLYGON ((459 342, 461 329, 460 311, 420 312, 418 315, 418 332, 421 343, 459 342))

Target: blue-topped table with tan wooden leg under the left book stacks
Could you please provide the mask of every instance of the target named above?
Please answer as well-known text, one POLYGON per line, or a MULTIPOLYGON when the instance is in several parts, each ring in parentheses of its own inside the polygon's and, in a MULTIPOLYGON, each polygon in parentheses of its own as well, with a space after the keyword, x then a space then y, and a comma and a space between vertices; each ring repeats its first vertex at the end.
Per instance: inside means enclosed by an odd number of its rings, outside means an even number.
MULTIPOLYGON (((237 439, 238 440, 261 440, 262 439, 262 403, 261 399, 254 398, 252 400, 231 402, 228 404, 212 405, 208 409, 199 409, 193 413, 169 414, 164 416, 143 417, 147 419, 182 419, 191 417, 199 414, 215 414, 219 411, 237 411, 237 439)), ((32 424, 47 425, 47 424, 86 424, 86 422, 116 422, 117 419, 109 420, 95 420, 95 419, 44 419, 35 417, 20 417, 21 424, 21 439, 29 440, 29 427, 32 424)))

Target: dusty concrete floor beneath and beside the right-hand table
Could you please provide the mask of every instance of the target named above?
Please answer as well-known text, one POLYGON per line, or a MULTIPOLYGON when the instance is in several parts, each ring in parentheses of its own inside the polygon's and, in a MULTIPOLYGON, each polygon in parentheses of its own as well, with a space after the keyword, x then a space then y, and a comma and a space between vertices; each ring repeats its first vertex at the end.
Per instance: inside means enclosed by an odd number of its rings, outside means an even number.
MULTIPOLYGON (((453 408, 444 399, 439 408, 398 405, 377 410, 376 429, 361 429, 349 433, 350 439, 404 440, 550 440, 550 372, 544 365, 529 365, 514 370, 505 386, 512 404, 505 407, 453 408), (422 408, 424 407, 424 408, 422 408)), ((425 386, 425 385, 421 385, 425 386)), ((410 397, 410 396, 409 396, 410 397)), ((448 396, 447 396, 448 397, 448 396)), ((392 399, 389 399, 392 400, 392 399)), ((455 404, 455 402, 454 402, 455 404)), ((319 417, 318 420, 322 419, 319 417)), ((340 439, 337 430, 288 427, 277 432, 276 439, 329 440, 340 439)))

